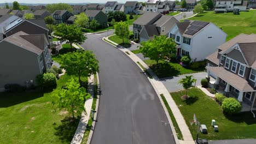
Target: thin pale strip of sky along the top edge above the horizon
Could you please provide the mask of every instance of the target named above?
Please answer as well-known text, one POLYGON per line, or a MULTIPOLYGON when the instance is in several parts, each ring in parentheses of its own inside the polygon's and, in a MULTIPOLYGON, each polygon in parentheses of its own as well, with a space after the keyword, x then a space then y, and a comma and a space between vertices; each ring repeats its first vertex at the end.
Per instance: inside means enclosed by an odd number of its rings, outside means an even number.
MULTIPOLYGON (((109 1, 117 1, 117 0, 109 0, 109 1)), ((127 0, 127 1, 136 1, 136 0, 127 0)), ((137 0, 140 2, 146 2, 147 0, 137 0)), ((8 0, 0 0, 0 3, 12 3, 13 1, 8 1, 8 0)), ((18 0, 17 2, 19 3, 106 3, 106 0, 18 0)), ((119 3, 125 3, 126 0, 118 0, 119 3)))

